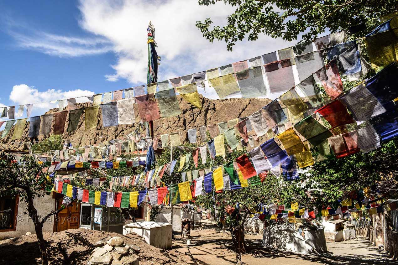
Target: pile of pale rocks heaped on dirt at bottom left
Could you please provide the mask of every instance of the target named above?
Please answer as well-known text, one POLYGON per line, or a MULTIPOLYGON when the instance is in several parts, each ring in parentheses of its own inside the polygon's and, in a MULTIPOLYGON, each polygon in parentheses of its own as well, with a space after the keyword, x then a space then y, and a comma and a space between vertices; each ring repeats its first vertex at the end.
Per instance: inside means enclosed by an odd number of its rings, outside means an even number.
POLYGON ((91 256, 87 259, 87 265, 139 265, 140 247, 124 244, 123 238, 114 236, 113 238, 103 238, 94 244, 96 247, 91 256))

